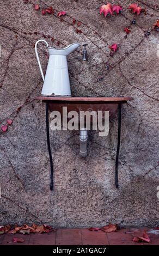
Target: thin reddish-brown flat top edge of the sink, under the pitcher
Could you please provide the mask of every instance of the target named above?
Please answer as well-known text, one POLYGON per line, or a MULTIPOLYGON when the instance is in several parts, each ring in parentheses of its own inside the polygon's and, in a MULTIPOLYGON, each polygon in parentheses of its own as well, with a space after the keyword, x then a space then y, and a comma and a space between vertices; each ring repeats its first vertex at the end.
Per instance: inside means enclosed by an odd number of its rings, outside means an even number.
POLYGON ((133 100, 133 97, 62 97, 62 96, 38 96, 36 100, 50 100, 50 101, 127 101, 133 100))

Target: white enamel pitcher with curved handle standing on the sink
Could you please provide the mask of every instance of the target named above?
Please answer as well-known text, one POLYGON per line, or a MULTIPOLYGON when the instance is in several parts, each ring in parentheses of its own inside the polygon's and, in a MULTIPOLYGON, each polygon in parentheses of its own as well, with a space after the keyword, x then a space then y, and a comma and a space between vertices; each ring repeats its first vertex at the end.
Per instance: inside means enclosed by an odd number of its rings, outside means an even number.
POLYGON ((41 76, 44 81, 42 92, 41 92, 42 95, 71 96, 67 56, 71 52, 74 52, 79 46, 80 45, 77 42, 75 42, 74 44, 71 44, 63 49, 56 49, 56 48, 48 47, 48 44, 45 40, 41 39, 36 42, 35 44, 36 58, 38 59, 41 76), (45 78, 42 72, 42 68, 41 68, 41 64, 40 64, 40 60, 37 52, 37 45, 40 41, 45 42, 50 55, 48 59, 45 78))

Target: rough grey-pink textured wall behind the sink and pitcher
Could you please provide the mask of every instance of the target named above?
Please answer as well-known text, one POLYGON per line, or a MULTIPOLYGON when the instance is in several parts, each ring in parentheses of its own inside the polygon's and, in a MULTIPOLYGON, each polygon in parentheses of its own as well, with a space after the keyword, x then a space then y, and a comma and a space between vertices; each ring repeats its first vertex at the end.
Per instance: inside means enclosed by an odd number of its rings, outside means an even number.
MULTIPOLYGON (((137 17, 127 9, 132 2, 120 1, 123 14, 105 18, 99 13, 102 2, 97 0, 0 1, 1 126, 13 120, 1 132, 1 224, 157 225, 159 32, 153 29, 146 38, 144 31, 153 28, 158 8, 157 0, 138 1, 147 14, 137 17), (33 4, 65 10, 64 21, 57 11, 42 16, 33 4), (72 25, 73 19, 81 25, 72 25), (133 19, 137 26, 132 25, 133 19), (131 26, 127 39, 126 26, 131 26), (76 28, 82 33, 76 33, 76 28), (72 42, 88 44, 87 63, 82 61, 82 47, 68 57, 74 96, 134 97, 123 107, 118 190, 114 185, 118 117, 114 117, 108 137, 89 132, 87 159, 79 157, 77 131, 50 132, 54 165, 54 190, 50 191, 45 105, 35 100, 42 88, 34 52, 38 39, 58 48, 72 42), (113 43, 120 47, 110 57, 113 43), (105 62, 111 65, 109 70, 105 62), (103 80, 97 82, 101 76, 103 80)), ((46 70, 45 45, 39 45, 39 55, 46 70)))

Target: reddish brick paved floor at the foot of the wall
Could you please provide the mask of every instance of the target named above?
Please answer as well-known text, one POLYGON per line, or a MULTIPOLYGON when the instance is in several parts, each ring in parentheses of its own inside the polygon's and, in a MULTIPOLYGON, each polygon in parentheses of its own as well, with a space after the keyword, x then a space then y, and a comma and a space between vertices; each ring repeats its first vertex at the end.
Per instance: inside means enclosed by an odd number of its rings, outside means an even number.
POLYGON ((159 245, 159 230, 123 228, 118 232, 105 233, 101 230, 90 231, 80 228, 57 229, 49 234, 3 234, 0 236, 0 245, 159 245), (132 241, 133 236, 142 236, 143 230, 146 230, 151 244, 132 241), (22 238, 25 242, 14 243, 12 242, 13 237, 22 238))

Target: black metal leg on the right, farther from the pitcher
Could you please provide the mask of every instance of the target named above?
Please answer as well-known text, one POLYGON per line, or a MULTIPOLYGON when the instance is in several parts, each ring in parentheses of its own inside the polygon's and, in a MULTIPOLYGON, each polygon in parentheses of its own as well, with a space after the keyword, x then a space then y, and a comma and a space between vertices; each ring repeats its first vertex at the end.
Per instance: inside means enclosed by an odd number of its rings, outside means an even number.
POLYGON ((118 159, 119 159, 119 149, 120 149, 120 133, 121 133, 121 103, 119 103, 119 113, 118 113, 118 145, 117 145, 117 156, 115 162, 115 186, 118 188, 118 159))

